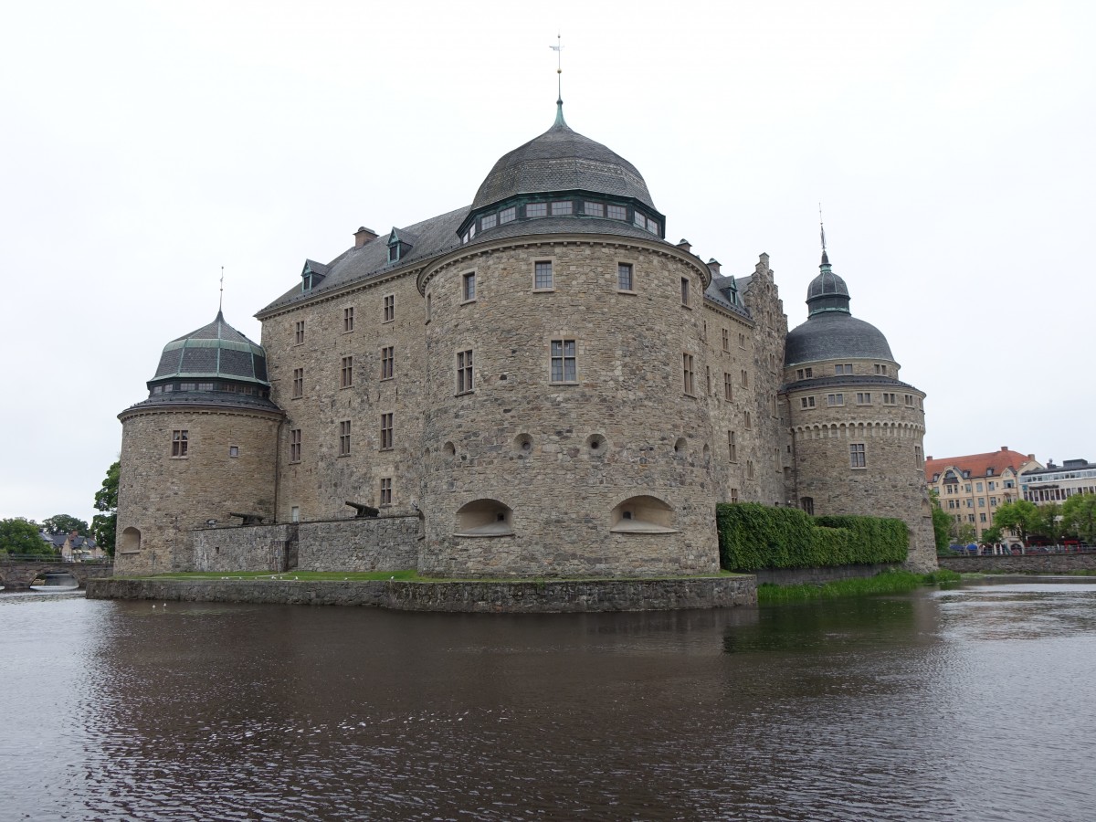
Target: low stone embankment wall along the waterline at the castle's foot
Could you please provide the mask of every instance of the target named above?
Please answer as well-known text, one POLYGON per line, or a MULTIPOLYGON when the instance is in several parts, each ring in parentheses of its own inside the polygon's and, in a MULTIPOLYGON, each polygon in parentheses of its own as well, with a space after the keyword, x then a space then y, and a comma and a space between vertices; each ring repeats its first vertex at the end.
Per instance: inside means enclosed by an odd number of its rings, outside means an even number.
POLYGON ((757 604, 753 576, 550 582, 91 580, 90 600, 361 605, 454 613, 589 613, 757 604))

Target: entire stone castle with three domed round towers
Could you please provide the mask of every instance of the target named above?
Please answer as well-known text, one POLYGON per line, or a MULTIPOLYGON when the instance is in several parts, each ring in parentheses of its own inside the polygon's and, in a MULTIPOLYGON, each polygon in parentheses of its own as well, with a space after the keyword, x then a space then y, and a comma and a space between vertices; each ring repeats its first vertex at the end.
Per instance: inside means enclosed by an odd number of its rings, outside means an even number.
POLYGON ((924 393, 824 250, 789 332, 768 255, 667 242, 562 103, 470 206, 354 238, 261 345, 218 312, 163 349, 119 414, 119 573, 706 574, 735 501, 900 517, 935 567, 924 393))

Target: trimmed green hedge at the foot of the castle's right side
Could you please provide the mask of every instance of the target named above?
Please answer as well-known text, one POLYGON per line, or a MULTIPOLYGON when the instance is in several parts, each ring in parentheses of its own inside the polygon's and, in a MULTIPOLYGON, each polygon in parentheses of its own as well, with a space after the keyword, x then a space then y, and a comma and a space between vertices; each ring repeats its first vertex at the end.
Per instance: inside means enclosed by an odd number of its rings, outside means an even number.
POLYGON ((812 517, 740 502, 716 507, 719 561, 729 571, 902 562, 905 523, 874 516, 812 517))

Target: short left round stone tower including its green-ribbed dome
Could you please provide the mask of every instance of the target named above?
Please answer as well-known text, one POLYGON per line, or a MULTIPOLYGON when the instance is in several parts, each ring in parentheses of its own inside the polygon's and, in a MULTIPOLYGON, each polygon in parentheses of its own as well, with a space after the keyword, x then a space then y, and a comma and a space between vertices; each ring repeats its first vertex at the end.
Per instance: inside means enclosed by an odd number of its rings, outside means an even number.
POLYGON ((118 414, 119 573, 189 569, 193 528, 274 512, 283 413, 270 400, 262 346, 218 311, 164 346, 148 389, 118 414))

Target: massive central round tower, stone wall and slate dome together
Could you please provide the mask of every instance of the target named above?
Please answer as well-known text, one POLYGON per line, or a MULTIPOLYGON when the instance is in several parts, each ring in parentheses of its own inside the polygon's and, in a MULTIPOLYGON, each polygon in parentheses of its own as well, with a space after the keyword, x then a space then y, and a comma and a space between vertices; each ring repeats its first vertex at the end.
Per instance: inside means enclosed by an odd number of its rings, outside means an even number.
POLYGON ((425 266, 419 560, 446 575, 718 570, 700 401, 711 274, 562 111, 425 266))

